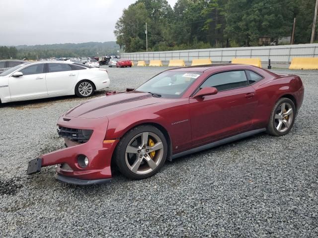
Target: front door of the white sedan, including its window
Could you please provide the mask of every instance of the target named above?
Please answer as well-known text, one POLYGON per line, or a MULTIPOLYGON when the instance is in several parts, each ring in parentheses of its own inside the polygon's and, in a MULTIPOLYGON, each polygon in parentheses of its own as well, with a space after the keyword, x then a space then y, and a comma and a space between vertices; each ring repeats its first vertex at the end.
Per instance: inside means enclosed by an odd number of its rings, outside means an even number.
POLYGON ((32 64, 19 70, 23 75, 9 77, 11 100, 47 97, 45 63, 32 64))

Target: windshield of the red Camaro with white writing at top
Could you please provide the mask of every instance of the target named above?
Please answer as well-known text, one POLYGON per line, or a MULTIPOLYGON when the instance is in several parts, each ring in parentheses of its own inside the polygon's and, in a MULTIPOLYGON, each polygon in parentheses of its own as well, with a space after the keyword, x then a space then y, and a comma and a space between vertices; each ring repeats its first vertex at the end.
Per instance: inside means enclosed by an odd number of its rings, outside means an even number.
POLYGON ((155 93, 167 98, 179 98, 201 74, 201 72, 165 71, 142 84, 136 91, 155 93))

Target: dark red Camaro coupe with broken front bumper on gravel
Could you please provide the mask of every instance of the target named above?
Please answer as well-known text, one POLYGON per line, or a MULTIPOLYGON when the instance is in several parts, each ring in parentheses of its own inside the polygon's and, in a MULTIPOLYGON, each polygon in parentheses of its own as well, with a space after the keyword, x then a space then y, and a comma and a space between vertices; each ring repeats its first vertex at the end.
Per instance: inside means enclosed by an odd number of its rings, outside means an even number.
POLYGON ((244 64, 169 69, 139 88, 86 101, 63 114, 67 148, 29 162, 27 174, 59 165, 57 179, 76 184, 156 174, 165 160, 262 131, 286 135, 304 97, 297 75, 244 64))

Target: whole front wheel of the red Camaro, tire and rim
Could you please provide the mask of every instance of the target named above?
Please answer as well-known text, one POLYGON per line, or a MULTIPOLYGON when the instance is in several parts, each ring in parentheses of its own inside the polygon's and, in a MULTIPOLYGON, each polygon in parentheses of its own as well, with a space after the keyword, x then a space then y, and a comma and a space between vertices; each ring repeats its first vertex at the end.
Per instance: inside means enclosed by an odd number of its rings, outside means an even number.
POLYGON ((167 142, 154 126, 142 125, 122 137, 115 151, 119 171, 130 179, 146 179, 155 175, 167 156, 167 142))

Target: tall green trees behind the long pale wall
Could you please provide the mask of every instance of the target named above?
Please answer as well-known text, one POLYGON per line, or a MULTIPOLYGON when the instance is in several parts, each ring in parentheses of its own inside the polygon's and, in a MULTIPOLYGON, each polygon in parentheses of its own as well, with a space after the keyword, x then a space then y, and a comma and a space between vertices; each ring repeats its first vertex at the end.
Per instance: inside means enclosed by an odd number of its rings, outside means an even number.
MULTIPOLYGON (((116 24, 117 44, 126 52, 258 46, 260 37, 291 36, 309 43, 314 0, 137 0, 116 24)), ((317 39, 317 37, 316 37, 317 39)))

